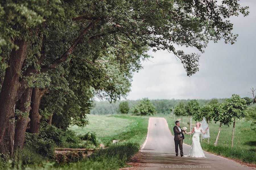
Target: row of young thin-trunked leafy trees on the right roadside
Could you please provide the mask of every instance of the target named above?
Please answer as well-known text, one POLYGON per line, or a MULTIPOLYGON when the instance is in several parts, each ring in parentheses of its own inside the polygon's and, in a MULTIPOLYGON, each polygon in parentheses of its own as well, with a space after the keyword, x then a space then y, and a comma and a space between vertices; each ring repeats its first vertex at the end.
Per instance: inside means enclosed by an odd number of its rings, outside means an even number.
POLYGON ((189 104, 186 106, 183 103, 179 103, 178 105, 176 105, 174 107, 174 114, 181 117, 185 115, 189 116, 190 125, 191 116, 193 116, 193 119, 195 121, 201 121, 203 117, 205 117, 208 122, 208 126, 212 120, 214 120, 215 123, 220 122, 218 135, 214 143, 215 146, 218 144, 221 126, 230 126, 233 123, 231 142, 231 147, 233 147, 235 122, 236 120, 248 115, 247 106, 250 105, 252 102, 253 100, 249 99, 248 97, 241 98, 237 94, 233 94, 232 97, 226 99, 224 103, 218 103, 217 99, 212 99, 208 104, 201 107, 199 107, 199 104, 196 100, 193 100, 189 102, 189 104))

